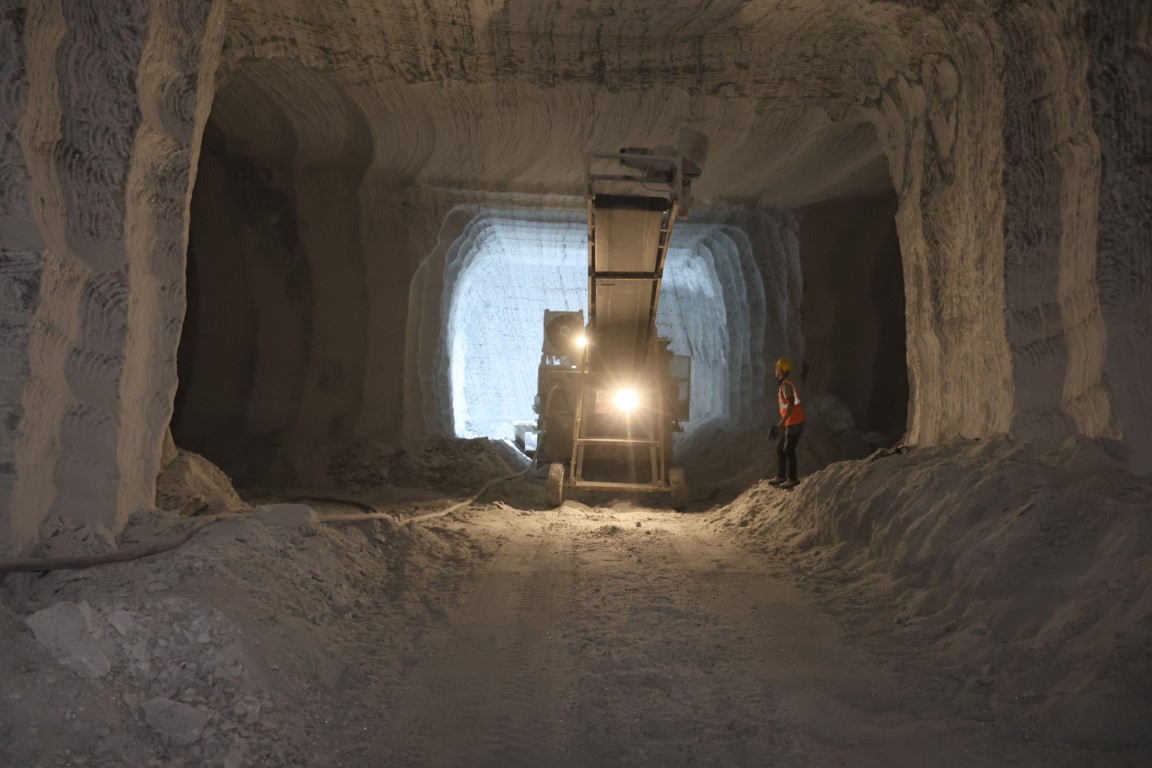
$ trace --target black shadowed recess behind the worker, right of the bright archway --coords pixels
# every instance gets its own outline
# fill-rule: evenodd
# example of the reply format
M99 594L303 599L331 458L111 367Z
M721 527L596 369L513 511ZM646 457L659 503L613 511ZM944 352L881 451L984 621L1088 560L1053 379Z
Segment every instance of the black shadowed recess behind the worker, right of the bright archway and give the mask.
M798 212L805 395L834 395L861 432L892 442L908 420L896 205L890 192Z

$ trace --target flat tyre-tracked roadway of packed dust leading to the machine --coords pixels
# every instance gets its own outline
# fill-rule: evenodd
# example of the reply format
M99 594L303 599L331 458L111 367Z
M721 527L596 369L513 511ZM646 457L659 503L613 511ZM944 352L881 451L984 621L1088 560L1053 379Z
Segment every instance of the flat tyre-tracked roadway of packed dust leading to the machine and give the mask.
M1075 765L940 709L700 522L576 508L476 531L503 543L406 671L379 765Z

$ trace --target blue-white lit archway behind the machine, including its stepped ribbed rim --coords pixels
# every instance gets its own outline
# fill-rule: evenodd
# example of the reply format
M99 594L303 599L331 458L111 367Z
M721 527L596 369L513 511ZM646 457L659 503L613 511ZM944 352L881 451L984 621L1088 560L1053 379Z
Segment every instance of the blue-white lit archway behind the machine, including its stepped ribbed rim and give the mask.
M763 211L703 212L676 226L657 326L694 360L682 444L705 427L763 423L765 351L801 344L798 282L787 277L796 268L791 227L787 214ZM567 212L483 212L445 264L441 343L417 379L434 385L426 394L440 428L510 438L513 420L535 419L544 310L585 309L585 222Z

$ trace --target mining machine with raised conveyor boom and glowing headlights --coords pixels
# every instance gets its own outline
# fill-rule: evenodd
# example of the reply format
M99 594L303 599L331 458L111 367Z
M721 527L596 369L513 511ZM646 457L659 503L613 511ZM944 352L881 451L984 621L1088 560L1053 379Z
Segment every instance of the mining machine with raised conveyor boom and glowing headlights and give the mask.
M688 487L673 436L689 418L691 362L657 333L665 259L688 215L707 138L681 130L677 146L626 147L584 159L588 203L588 320L544 313L536 395L537 466L546 499L567 491L670 494Z

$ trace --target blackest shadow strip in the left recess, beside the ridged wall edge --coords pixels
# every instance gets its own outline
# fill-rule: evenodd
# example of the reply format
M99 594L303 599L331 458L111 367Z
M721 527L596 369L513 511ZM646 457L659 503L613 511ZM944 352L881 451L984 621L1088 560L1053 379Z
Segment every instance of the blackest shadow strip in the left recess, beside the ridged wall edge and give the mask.
M237 480L274 463L303 394L312 302L285 183L205 140L172 433Z

